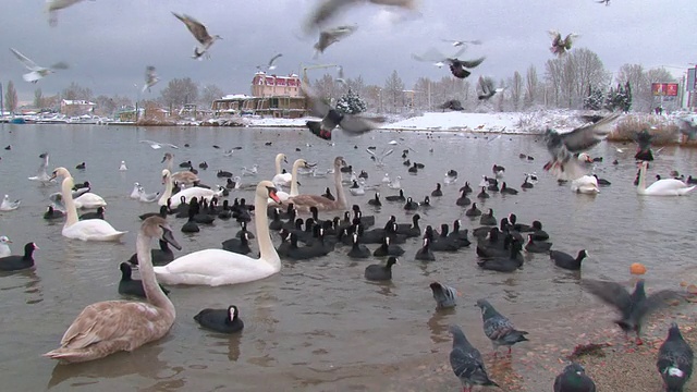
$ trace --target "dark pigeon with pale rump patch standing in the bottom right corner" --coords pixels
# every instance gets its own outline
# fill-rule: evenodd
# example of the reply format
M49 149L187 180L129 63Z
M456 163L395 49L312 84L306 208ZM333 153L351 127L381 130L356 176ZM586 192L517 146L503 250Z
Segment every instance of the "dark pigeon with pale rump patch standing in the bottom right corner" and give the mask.
M693 350L685 342L675 322L668 330L668 338L658 351L656 367L665 383L665 390L682 391L693 375Z

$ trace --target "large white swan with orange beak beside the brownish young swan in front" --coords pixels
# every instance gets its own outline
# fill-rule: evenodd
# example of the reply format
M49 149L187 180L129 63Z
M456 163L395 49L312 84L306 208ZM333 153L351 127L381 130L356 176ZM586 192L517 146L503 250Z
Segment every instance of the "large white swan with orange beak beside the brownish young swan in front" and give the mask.
M270 181L261 181L254 198L255 226L259 241L258 259L223 250L204 249L179 257L163 267L155 267L158 280L164 284L199 284L218 286L252 282L281 270L281 259L273 248L267 219L267 198L279 201Z

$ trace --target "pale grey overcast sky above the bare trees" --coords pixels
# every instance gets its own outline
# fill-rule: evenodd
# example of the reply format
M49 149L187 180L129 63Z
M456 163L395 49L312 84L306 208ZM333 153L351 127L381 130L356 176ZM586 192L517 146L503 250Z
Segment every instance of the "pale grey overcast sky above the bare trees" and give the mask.
M535 64L540 77L551 58L549 29L577 33L576 47L600 56L616 72L624 63L645 68L667 65L682 77L697 62L694 36L695 0L420 0L420 15L391 12L371 4L354 8L331 25L357 24L357 32L313 60L316 35L302 24L318 0L95 0L59 11L50 27L42 0L2 0L0 82L13 81L21 101L35 88L44 95L61 91L71 82L95 95L159 97L171 78L192 77L200 86L216 84L227 94L249 94L256 65L277 52L278 74L299 73L299 64L342 64L346 77L363 75L367 84L383 85L396 70L406 87L419 76L439 79L447 69L416 62L412 53L436 47L453 52L441 39L481 39L461 56L486 56L473 74L498 78ZM188 14L223 37L210 59L191 58L196 41L171 11ZM58 61L71 68L29 84L13 47L39 65ZM139 95L146 65L155 65L160 83ZM668 66L671 68L668 68ZM309 73L320 77L323 70ZM135 85L138 87L136 88Z

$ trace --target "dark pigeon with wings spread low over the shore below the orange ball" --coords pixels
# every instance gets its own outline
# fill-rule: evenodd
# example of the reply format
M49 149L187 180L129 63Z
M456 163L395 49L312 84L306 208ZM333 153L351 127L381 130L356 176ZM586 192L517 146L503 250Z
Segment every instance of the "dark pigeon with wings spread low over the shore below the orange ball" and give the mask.
M643 279L636 282L632 294L616 282L584 280L582 284L602 302L620 310L622 319L615 320L615 323L627 334L627 339L629 331L636 332L636 344L643 344L640 333L644 317L664 306L667 299L680 297L672 290L661 290L647 297Z

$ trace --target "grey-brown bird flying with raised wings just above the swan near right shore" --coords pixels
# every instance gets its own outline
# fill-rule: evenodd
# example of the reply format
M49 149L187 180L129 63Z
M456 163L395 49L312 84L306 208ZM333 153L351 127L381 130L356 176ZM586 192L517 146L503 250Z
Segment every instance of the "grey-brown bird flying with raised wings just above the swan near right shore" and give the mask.
M576 180L583 176L583 168L573 155L585 151L604 139L612 132L614 121L619 118L620 113L613 113L597 123L563 134L547 130L545 142L552 159L545 164L545 170L554 173L558 180Z

